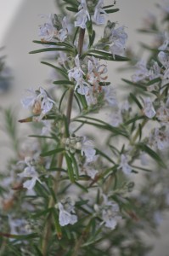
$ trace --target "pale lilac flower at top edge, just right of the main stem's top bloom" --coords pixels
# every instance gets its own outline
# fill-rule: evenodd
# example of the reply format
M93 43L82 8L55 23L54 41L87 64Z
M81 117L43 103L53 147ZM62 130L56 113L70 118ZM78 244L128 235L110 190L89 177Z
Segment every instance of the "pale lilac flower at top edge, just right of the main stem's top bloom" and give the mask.
M105 23L104 15L107 15L103 9L104 7L104 0L99 0L97 3L95 10L94 10L94 21L97 25L102 25Z

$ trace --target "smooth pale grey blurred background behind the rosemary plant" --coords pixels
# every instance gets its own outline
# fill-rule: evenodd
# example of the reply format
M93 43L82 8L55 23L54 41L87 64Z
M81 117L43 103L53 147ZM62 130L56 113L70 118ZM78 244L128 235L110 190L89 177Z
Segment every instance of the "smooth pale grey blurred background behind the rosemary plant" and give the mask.
M156 0L157 1L157 0ZM144 38L143 34L138 34L136 29L143 25L143 18L148 11L157 12L155 0L118 0L116 6L120 12L112 15L111 21L118 21L119 26L127 27L127 46L135 51L138 50L138 42L150 42L150 37ZM105 0L104 3L111 3ZM38 44L33 44L32 40L38 38L38 26L42 23L40 15L56 13L57 8L54 0L0 0L0 55L6 55L5 62L9 67L10 86L8 90L0 91L0 107L11 107L16 109L17 118L25 118L20 99L27 88L38 88L40 85L48 88L48 77L50 68L40 63L42 54L29 55L33 49L38 49ZM101 37L100 32L100 37ZM99 29L98 29L99 36ZM110 67L111 81L117 86L121 83L121 78L130 79L131 73L116 73L115 68L119 64ZM112 70L114 71L112 72ZM113 73L113 75L112 75ZM26 125L20 125L21 134L26 135ZM0 131L0 163L5 165L8 155L11 155L8 138ZM164 215L159 226L160 237L145 237L145 241L154 243L155 249L149 254L151 256L167 256L169 249L169 216ZM137 256L137 255L136 255Z

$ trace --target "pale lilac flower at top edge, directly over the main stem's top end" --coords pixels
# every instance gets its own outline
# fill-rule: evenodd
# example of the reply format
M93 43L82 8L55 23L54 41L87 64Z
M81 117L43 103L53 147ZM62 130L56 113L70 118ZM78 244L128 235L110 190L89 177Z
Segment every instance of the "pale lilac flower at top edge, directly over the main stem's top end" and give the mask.
M80 26L85 29L87 20L90 20L90 15L87 10L87 3L86 0L81 0L81 4L78 7L79 12L75 15L76 21L75 26Z

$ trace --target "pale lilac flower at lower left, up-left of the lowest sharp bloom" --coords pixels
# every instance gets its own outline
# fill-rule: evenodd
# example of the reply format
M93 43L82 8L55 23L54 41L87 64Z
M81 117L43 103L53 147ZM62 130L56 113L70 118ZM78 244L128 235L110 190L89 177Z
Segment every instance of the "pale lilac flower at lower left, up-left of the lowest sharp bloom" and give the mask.
M30 157L25 157L25 169L24 172L21 172L18 174L19 177L31 177L31 179L25 181L23 183L23 187L25 189L33 189L36 182L38 181L41 183L40 179L38 178L37 172L35 170L35 166L31 166L32 159ZM23 161L20 161L19 163L23 163Z

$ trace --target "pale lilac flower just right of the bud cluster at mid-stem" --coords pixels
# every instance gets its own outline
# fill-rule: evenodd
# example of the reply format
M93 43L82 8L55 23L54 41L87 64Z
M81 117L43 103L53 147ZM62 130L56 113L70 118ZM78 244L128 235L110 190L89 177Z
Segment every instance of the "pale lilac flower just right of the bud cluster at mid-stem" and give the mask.
M93 142L86 137L82 138L81 153L86 156L87 162L92 162L95 159L96 150L93 148Z

